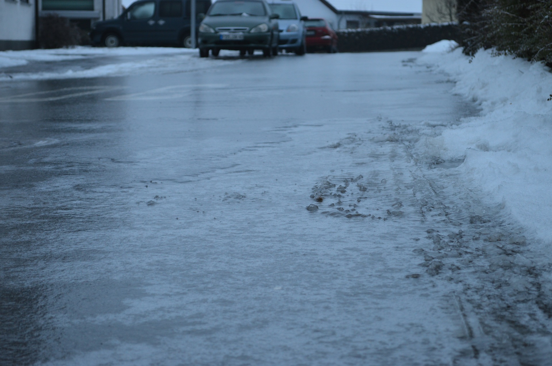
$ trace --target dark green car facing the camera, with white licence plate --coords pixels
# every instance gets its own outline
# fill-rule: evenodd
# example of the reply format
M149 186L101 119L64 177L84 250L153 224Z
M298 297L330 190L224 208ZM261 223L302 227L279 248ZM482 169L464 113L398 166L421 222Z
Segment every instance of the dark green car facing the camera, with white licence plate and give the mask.
M209 8L199 25L199 57L209 50L237 50L241 56L262 50L263 56L278 54L278 14L273 14L265 0L219 0Z

